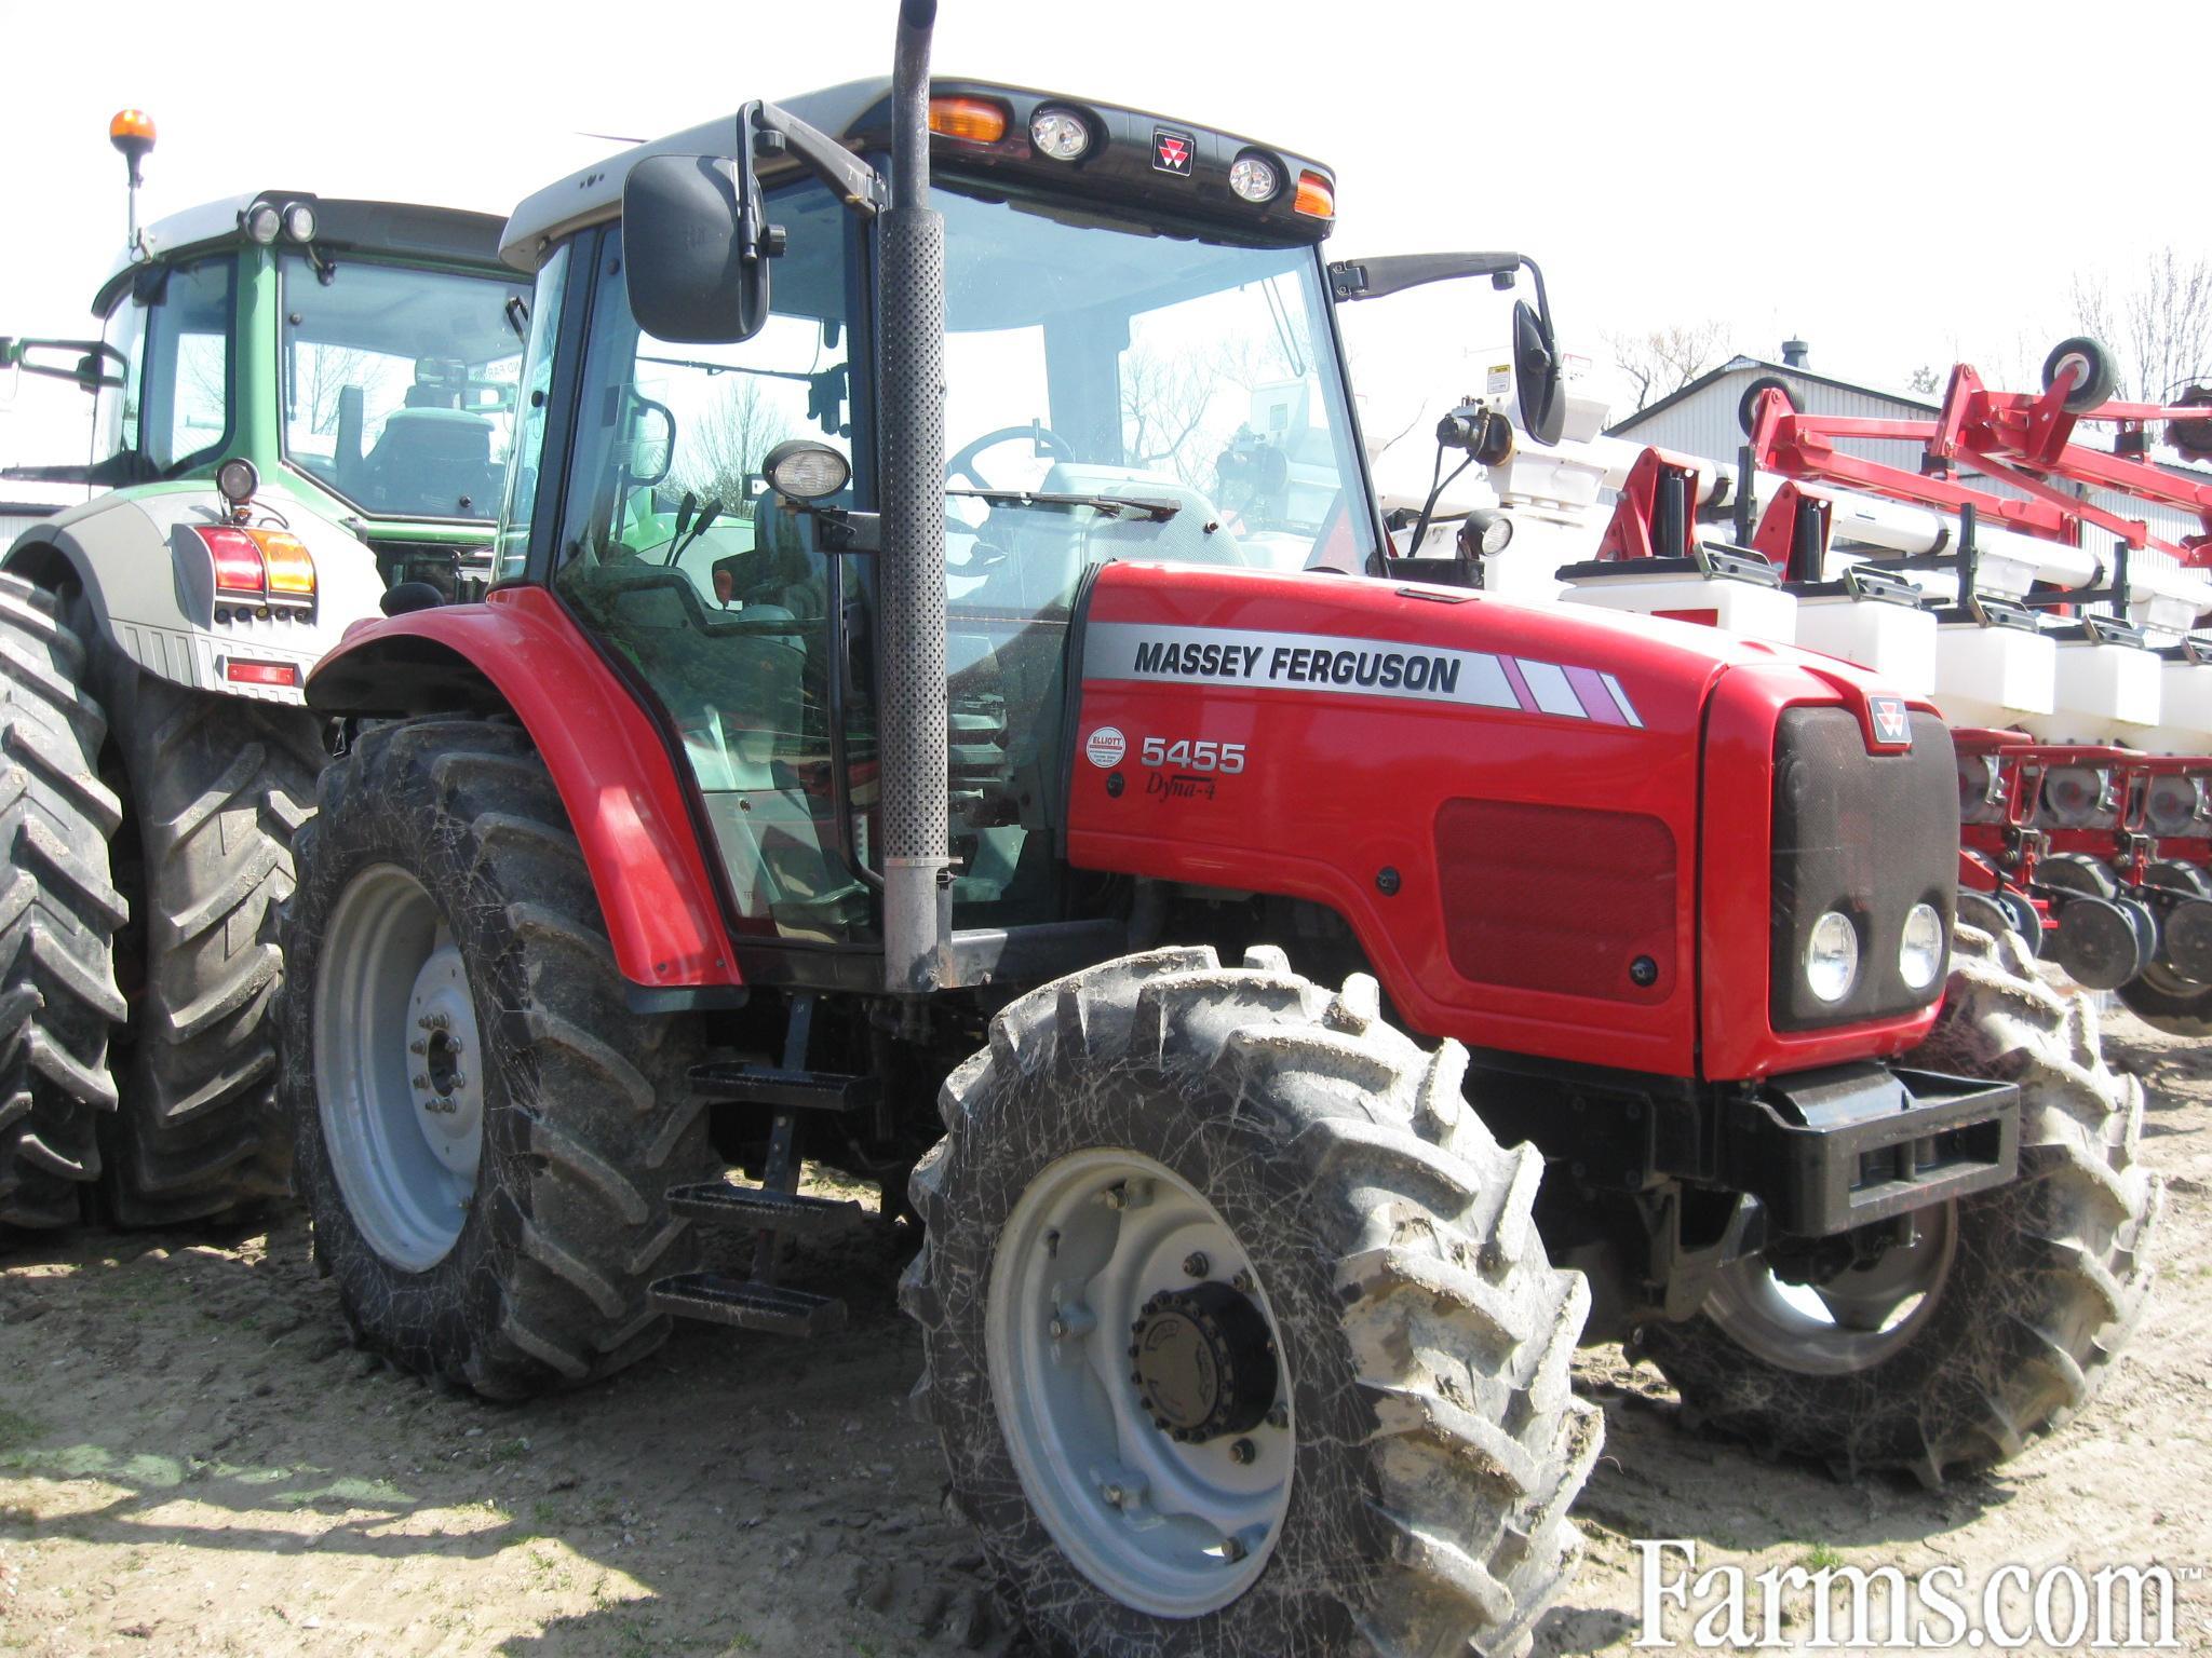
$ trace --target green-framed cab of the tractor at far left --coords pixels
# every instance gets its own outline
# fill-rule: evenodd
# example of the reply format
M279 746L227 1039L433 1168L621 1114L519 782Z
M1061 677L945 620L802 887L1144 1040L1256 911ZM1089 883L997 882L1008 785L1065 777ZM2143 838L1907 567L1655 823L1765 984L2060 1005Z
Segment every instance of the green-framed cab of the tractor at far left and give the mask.
M7 475L159 491L250 460L387 581L480 590L524 332L498 223L263 190L135 230L93 298L102 338L0 345L95 398L84 462Z

